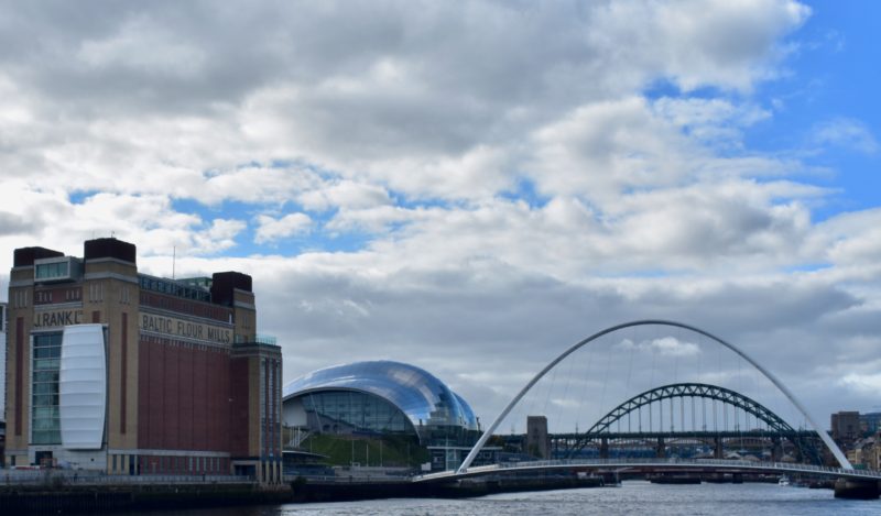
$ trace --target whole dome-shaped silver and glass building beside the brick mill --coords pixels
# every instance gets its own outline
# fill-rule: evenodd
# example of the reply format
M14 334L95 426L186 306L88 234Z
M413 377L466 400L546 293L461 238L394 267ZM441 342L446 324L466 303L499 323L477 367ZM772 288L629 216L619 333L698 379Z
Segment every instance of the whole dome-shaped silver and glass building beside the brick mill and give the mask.
M283 389L284 425L331 435L410 436L434 468L457 460L479 437L471 407L433 374L393 361L308 373Z

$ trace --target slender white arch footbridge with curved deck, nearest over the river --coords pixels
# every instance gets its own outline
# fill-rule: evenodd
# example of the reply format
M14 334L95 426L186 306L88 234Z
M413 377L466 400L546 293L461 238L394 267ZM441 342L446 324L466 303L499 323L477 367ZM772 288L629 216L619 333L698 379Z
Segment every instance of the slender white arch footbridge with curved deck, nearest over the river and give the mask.
M780 389L783 395L792 403L795 408L804 416L805 420L811 425L817 437L828 448L839 464L839 468L826 468L812 464L798 464L790 462L754 462L754 461L732 461L732 460L683 460L683 459L567 459L567 460L541 460L527 462L514 462L507 464L490 464L471 468L471 462L478 455L480 450L486 444L487 440L493 435L498 426L504 420L511 409L523 398L523 396L550 372L555 365L565 360L573 352L578 349L589 345L602 336L631 327L639 326L667 326L674 328L682 328L695 333L701 334L720 345L733 351L740 358L749 362L760 373L762 373L771 383ZM622 325L612 326L602 331L599 331L568 348L559 354L556 359L551 361L542 371L540 371L521 391L516 396L511 399L508 406L499 414L496 420L487 427L486 431L481 435L477 443L471 448L468 455L456 470L443 471L420 475L413 479L414 482L448 482L469 476L482 476L503 473L529 472L529 471L547 471L547 470L578 470L578 471L616 471L616 470L653 470L653 471L699 471L699 472L766 472L776 474L809 474L813 476L826 477L842 477L851 480L881 480L881 472L870 470L855 470L850 462L845 457L844 452L831 440L829 435L825 432L814 418L808 414L804 405L795 397L795 395L780 382L770 371L759 364L755 360L749 356L740 348L726 342L725 340L694 326L683 322L661 319L646 319L626 322Z

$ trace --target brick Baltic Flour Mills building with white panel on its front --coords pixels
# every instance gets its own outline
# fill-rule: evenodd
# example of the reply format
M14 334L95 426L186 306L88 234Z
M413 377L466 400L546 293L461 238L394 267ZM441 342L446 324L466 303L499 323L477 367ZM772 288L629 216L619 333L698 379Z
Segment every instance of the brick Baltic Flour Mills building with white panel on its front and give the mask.
M14 251L6 464L281 481L281 349L251 277L138 272L135 246Z

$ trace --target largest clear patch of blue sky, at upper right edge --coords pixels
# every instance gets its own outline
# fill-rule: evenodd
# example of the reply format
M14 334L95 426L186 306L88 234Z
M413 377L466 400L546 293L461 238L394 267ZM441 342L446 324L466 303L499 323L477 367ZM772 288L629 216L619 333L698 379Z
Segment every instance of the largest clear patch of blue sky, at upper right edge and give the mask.
M747 142L769 152L813 154L807 160L812 167L829 169L830 176L816 183L842 191L815 212L823 219L879 204L881 100L871 91L881 81L881 69L873 66L881 51L874 26L881 6L870 1L808 6L812 15L794 35L800 50L785 61L790 72L757 91L765 101L780 99L784 108L775 112L773 124L757 128ZM866 131L867 140L817 142L817 131L836 122L855 124Z

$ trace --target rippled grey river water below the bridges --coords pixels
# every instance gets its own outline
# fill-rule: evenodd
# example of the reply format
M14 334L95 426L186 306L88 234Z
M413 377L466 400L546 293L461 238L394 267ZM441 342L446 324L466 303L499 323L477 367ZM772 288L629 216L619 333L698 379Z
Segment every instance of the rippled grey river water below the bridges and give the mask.
M379 499L324 504L164 510L178 516L523 516L523 515L879 515L881 501L836 499L829 490L776 484L659 485L627 481L620 487L510 493L468 499ZM133 516L132 513L127 513Z

